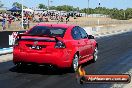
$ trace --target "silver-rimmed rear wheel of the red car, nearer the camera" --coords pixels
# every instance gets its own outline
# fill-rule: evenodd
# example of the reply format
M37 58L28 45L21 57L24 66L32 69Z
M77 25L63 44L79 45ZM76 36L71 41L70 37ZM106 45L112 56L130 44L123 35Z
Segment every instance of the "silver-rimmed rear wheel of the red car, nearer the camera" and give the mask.
M76 72L78 70L78 60L79 60L79 56L75 54L71 65L72 72Z

